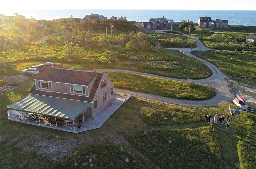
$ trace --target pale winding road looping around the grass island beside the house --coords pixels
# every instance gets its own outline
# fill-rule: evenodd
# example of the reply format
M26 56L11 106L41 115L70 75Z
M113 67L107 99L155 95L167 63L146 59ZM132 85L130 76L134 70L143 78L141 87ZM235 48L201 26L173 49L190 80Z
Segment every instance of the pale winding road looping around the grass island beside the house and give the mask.
M156 32L163 32L163 30L156 30ZM184 36L188 36L186 34L183 34ZM212 50L211 48L207 48L204 46L204 44L198 40L195 37L191 37L196 40L196 48L193 48L194 50ZM204 84L207 86L212 86L216 91L216 96L209 100L203 100L203 101L192 101L192 100L181 100L181 99L172 99L172 98L166 98L162 96L152 95L152 94L146 94L146 93L140 93L140 92L133 92L133 91L126 91L122 89L115 89L115 92L122 93L122 94L134 94L139 95L142 97L162 100L166 102L171 102L175 104L181 104L185 105L194 105L194 106L217 106L221 105L227 102L230 102L234 99L234 95L230 93L230 90L228 88L227 80L228 77L224 76L222 72L213 64L204 61L203 59L200 59L190 53L191 48L167 48L172 50L181 50L184 52L185 55L188 55L190 57L193 57L195 59L200 60L201 62L204 62L211 70L212 70L212 76L208 77L206 79L199 79L199 80L193 80L193 82L198 84ZM116 70L116 69L98 69L98 70L90 70L90 71L97 71L97 72L103 72L103 71L117 71L117 72L125 72L125 73L132 73L137 75L143 75L143 76L150 76L150 77L158 77L158 78L164 78L169 80L176 80L176 81L182 81L186 82L187 79L176 79L176 78L170 78L170 77L162 77L157 75L152 75L148 73L141 73L141 72L135 72L130 70Z

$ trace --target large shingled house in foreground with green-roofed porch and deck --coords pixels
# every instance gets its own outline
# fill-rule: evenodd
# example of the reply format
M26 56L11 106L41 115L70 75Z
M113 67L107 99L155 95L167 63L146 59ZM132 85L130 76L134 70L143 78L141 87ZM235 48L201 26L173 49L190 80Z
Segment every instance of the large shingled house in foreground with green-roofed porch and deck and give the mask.
M8 120L76 133L99 128L124 103L106 73L44 68L34 80L6 107Z

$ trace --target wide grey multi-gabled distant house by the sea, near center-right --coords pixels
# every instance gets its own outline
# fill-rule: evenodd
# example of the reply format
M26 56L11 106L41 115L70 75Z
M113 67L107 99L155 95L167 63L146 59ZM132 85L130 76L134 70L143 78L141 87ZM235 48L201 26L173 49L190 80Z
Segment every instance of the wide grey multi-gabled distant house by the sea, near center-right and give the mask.
M178 28L180 22L174 22L173 19L162 18L150 18L149 22L152 22L156 28Z

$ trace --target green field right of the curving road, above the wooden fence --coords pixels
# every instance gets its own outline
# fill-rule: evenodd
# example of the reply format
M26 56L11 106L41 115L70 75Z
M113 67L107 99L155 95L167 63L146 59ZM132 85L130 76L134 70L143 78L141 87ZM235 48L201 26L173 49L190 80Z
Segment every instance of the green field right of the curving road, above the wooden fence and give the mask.
M256 52L249 51L196 51L195 55L217 66L229 76L255 77Z

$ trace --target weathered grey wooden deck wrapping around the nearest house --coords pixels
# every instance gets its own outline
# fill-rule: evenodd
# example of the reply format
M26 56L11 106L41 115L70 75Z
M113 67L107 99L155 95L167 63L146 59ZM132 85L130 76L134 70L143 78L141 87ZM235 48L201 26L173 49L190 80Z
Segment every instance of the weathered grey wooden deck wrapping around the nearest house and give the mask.
M79 129L77 129L77 124L79 123L78 122L79 120L80 121L83 120L82 115L80 115L77 118L77 122L75 126L74 125L64 126L63 124L60 124L58 122L56 125L56 122L49 122L45 118L41 119L40 117L36 119L29 119L29 114L26 114L26 112L20 112L17 110L9 110L8 119L10 121L17 121L25 124L32 124L32 125L47 127L51 129L79 133L83 131L100 128L108 120L108 118L110 118L110 116L114 114L115 111L125 102L125 99L127 97L128 96L122 96L122 95L116 94L115 98L112 99L105 107L102 107L101 110L97 112L97 114L95 114L93 117L84 116L84 124L83 122L80 122L81 127ZM61 119L57 119L57 120L61 121Z

